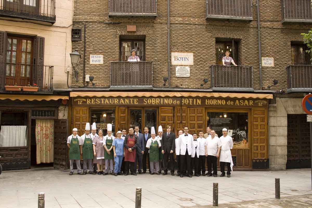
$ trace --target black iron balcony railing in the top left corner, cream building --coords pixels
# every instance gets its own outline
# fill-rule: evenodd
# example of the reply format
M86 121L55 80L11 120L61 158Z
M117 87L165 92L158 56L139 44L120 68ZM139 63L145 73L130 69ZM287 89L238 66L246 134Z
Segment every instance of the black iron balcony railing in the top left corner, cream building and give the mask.
M0 17L13 17L54 24L56 0L0 0Z

